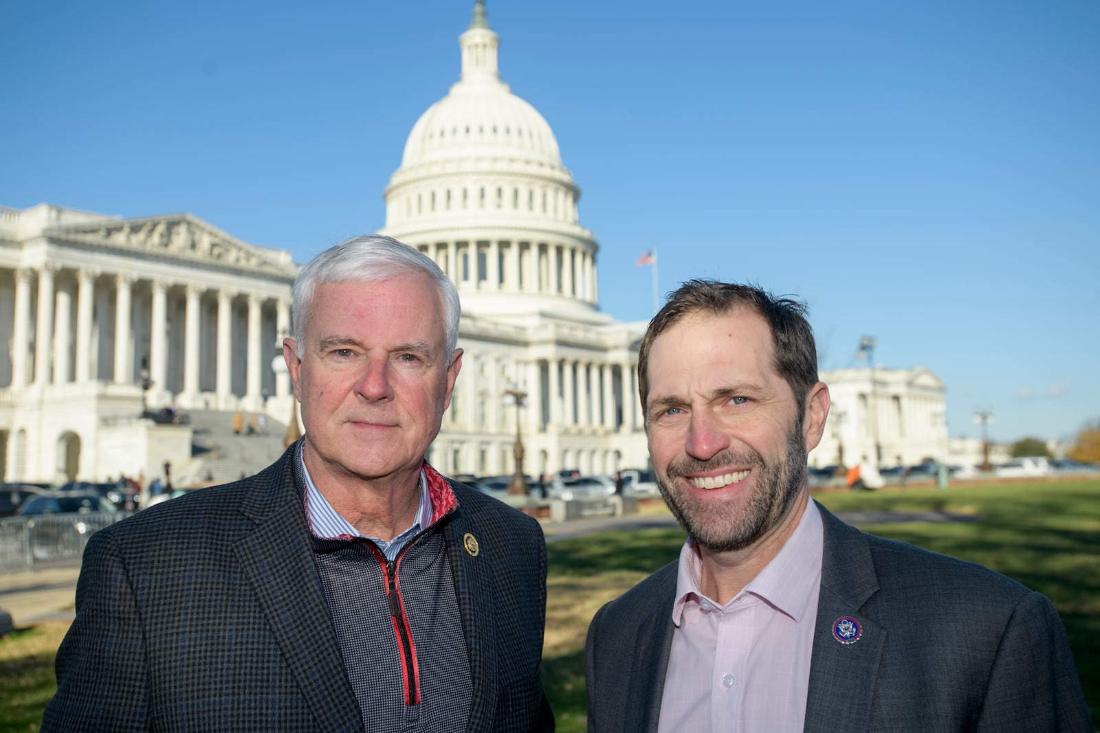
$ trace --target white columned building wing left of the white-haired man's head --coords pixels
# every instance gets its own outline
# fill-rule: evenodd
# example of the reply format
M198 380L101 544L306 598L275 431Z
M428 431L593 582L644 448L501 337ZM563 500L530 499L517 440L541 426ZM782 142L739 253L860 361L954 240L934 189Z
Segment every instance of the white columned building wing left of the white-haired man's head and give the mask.
M188 429L163 437L165 415L151 420L143 407L253 411L264 387L286 384L267 373L264 340L289 333L297 268L288 253L244 245L187 214L127 220L40 204L0 208L0 262L14 286L0 288L10 359L0 369L0 440L9 441L0 479L154 476L168 445L183 471L173 477L193 479L180 458L190 449L179 447ZM246 329L243 308L234 320L237 298L248 300Z

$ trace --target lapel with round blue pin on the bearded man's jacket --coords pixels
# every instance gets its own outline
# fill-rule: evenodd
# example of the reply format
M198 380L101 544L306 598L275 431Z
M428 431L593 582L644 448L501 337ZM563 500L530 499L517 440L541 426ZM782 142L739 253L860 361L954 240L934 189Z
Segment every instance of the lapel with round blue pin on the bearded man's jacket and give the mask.
M824 525L821 595L810 660L805 731L867 731L886 629L862 613L878 590L866 537L827 509L817 506ZM860 628L857 641L844 644L834 625L844 618Z

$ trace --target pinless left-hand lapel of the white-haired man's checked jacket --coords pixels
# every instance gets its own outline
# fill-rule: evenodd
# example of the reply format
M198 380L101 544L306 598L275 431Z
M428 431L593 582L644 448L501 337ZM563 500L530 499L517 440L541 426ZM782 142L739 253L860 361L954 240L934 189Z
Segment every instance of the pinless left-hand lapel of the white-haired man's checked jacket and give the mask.
M314 565L305 510L294 484L297 453L256 477L254 500L242 512L257 522L233 545L283 657L320 730L362 730L324 591Z

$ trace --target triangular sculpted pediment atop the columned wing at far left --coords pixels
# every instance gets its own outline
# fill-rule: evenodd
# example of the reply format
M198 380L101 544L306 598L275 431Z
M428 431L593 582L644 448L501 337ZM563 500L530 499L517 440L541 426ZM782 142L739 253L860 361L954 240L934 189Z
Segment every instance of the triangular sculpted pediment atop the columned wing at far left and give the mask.
M191 214L109 219L52 226L43 234L97 248L141 252L248 273L292 279L297 274L290 253L246 244Z

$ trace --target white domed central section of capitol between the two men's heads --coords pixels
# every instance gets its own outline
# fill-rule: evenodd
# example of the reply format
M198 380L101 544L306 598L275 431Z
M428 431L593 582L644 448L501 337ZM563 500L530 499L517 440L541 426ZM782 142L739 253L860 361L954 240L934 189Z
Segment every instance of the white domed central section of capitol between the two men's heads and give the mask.
M413 125L380 231L438 263L462 300L462 373L429 460L508 474L518 430L530 475L645 466L644 324L600 311L580 189L550 125L501 79L482 0L459 45L461 76Z

